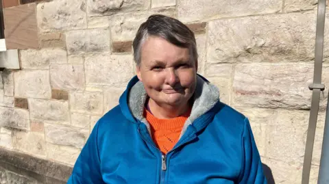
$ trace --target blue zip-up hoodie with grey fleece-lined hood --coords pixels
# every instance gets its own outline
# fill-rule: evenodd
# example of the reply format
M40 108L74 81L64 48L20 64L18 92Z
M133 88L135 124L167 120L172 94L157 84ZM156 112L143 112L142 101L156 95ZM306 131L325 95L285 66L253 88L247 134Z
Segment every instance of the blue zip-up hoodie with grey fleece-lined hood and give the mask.
M147 94L134 77L96 124L68 183L267 183L249 121L197 76L191 116L164 155L143 117Z

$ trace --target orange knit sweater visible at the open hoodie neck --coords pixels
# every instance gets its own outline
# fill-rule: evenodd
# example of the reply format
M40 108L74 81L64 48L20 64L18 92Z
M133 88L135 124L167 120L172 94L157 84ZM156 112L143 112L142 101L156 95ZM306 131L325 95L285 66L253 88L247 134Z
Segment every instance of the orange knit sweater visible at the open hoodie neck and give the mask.
M167 154L178 142L184 123L190 114L191 110L177 118L159 119L144 109L144 117L151 125L152 138L162 153Z

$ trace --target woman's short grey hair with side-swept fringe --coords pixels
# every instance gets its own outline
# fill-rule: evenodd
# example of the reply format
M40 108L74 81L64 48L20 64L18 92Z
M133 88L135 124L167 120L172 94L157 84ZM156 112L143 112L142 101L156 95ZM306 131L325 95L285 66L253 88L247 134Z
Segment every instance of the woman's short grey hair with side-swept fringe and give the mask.
M132 42L136 66L141 65L141 47L149 36L158 36L175 46L188 48L190 58L197 62L197 44L193 31L175 18L154 14L141 24Z

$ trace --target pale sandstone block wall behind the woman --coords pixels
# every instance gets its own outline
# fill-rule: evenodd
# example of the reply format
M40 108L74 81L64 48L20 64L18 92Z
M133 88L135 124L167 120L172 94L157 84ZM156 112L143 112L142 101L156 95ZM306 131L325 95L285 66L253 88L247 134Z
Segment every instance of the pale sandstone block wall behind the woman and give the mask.
M138 26L151 14L165 14L195 32L198 73L219 87L221 101L250 119L262 161L274 181L300 183L317 1L20 3L4 10L6 42L9 48L20 49L21 70L0 72L2 148L73 166L95 122L117 105L134 76L132 40ZM13 14L19 18L11 18ZM326 34L322 73L326 86L328 41ZM317 183L327 94L325 90L321 95L310 183Z

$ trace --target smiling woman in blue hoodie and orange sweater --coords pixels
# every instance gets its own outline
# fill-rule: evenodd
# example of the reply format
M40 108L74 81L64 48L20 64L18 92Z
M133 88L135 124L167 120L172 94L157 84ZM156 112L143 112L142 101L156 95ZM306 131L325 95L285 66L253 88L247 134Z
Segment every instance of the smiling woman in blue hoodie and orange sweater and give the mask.
M95 125L68 183L267 183L247 118L197 75L193 32L153 15L133 47L137 76Z

